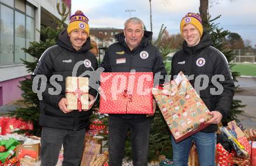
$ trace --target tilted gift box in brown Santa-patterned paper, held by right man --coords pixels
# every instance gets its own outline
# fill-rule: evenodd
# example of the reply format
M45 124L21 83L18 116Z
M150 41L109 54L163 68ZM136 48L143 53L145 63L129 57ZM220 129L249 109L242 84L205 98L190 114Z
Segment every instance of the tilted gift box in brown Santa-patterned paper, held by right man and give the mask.
M152 88L152 93L176 142L209 125L209 109L182 72L172 82Z

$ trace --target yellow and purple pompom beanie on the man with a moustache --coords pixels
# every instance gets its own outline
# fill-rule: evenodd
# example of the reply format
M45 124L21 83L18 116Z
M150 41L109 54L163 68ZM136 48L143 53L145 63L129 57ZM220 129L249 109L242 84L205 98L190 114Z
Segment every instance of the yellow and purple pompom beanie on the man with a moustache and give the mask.
M90 35L90 27L88 25L88 18L84 16L81 10L77 10L72 16L69 17L69 25L67 25L67 34L70 34L74 29L84 29L87 35Z

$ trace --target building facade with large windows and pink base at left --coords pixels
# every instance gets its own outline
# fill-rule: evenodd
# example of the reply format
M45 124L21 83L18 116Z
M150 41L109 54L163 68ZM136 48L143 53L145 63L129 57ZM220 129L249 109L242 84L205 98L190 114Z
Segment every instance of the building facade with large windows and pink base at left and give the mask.
M30 74L23 60L34 61L22 48L40 40L41 25L55 28L61 19L56 9L60 0L0 0L0 106L16 101L22 91L19 81ZM71 0L64 1L70 6ZM66 21L68 23L68 21Z

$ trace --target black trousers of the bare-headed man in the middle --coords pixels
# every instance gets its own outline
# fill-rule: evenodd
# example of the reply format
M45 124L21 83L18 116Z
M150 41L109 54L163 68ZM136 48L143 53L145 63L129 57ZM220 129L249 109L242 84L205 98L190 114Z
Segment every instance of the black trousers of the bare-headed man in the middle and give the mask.
M131 134L131 152L134 166L146 166L148 163L148 141L151 127L150 118L133 116L112 116L108 121L109 166L121 166L125 152L127 132Z

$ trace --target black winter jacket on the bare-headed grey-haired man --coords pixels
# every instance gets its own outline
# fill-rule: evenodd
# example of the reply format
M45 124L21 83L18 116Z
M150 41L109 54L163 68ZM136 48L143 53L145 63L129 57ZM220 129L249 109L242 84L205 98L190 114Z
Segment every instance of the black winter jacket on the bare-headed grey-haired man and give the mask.
M130 72L131 69L135 69L136 72L153 72L154 75L155 73L161 72L163 78L158 78L159 83L162 84L164 82L166 70L161 53L157 47L149 43L152 38L152 32L144 31L140 45L133 50L130 50L129 46L127 46L123 33L117 34L115 38L118 42L108 47L100 65L100 67L105 69L104 72ZM131 116L144 117L145 115Z

